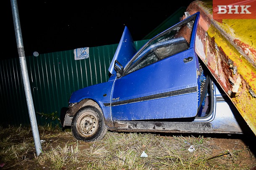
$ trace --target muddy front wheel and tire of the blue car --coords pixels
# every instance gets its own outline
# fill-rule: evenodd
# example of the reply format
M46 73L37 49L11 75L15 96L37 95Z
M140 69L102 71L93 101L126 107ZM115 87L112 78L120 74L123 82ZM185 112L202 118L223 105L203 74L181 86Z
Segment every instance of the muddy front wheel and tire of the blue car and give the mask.
M102 113L93 106L85 106L72 119L71 130L77 140L91 142L101 140L107 133Z

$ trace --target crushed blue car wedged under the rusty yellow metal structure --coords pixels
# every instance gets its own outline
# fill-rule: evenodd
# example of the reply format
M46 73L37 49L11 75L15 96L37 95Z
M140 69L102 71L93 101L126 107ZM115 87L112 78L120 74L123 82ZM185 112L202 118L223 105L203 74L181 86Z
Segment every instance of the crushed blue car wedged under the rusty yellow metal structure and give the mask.
M107 82L72 93L63 127L82 141L109 131L242 134L232 103L195 52L200 13L149 40L138 52L125 27Z

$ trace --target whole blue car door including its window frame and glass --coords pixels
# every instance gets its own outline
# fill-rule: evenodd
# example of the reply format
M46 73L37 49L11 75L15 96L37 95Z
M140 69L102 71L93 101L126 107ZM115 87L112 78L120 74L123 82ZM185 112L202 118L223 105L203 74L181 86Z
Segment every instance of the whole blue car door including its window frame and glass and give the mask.
M194 117L198 108L198 60L194 41L199 13L146 43L112 88L114 121Z

